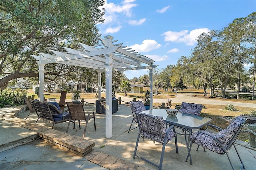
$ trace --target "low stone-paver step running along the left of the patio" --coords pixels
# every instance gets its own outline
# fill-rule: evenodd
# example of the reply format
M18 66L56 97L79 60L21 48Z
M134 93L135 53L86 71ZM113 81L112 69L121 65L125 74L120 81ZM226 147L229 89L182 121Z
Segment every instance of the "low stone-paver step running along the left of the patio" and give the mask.
M23 110L23 108L18 108L17 110ZM44 127L36 123L31 123L24 119L15 117L13 113L3 111L0 115L1 118L5 121L18 125L19 127L28 129L26 130L28 131L26 133L30 134L26 136L24 140L20 139L17 141L8 142L8 144L1 144L0 148L2 151L12 148L11 146L15 147L20 144L32 142L33 140L36 140L38 138L41 138L42 140L50 144L58 146L61 149L72 152L79 156L84 156L87 153L91 152L92 148L95 146L95 142L80 138L78 136L74 136L72 134L66 134L64 132L60 132L49 127Z

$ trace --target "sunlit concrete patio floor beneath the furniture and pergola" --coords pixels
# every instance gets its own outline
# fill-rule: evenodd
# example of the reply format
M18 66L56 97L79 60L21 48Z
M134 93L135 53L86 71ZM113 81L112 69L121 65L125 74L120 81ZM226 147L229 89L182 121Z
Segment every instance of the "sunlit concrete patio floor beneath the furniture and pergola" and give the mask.
M86 111L96 111L95 105L86 105L85 106ZM21 113L18 118L22 119L25 121L26 116L28 115L28 111ZM34 123L37 119L37 116L35 113L31 113L30 116L28 117L27 121L30 121L31 123ZM102 114L97 114L96 113L96 131L94 131L94 126L93 126L93 121L90 121L88 123L88 127L86 130L86 139L87 140L92 140L95 142L95 146L93 147L93 152L102 152L105 154L108 154L110 156L114 156L116 158L120 158L124 161L136 164L138 166L130 167L130 169L136 169L140 167L140 169L158 169L155 166L152 166L151 164L141 160L140 158L135 158L133 159L133 152L134 152L134 147L136 144L136 139L138 136L138 128L130 131L128 133L128 128L130 126L130 123L132 121L132 113L130 110L130 107L126 107L125 105L118 105L118 112L113 114L113 135L112 138L106 138L105 137L105 115ZM52 125L49 123L44 123L42 121L38 121L38 123L35 124L35 126L44 126L44 127L49 127L51 128ZM61 124L56 124L54 125L55 130L59 130L61 132L66 132L66 127L68 123L61 123ZM81 129L79 129L78 124L76 124L76 128L73 129L73 126L70 125L68 134L72 134L75 136L82 137L82 133L84 130L84 123L81 123ZM3 123L1 123L1 127L3 126ZM134 123L134 126L136 124ZM177 129L176 131L179 131ZM1 139L2 140L2 134L3 130L1 129ZM20 134L16 134L16 136L22 136ZM13 135L14 136L14 135ZM1 141L2 142L2 141ZM29 144L26 144L24 146L34 146L37 147L37 145L40 145L42 143L45 143L42 140L36 140L34 142L31 142ZM237 143L237 148L238 152L242 158L242 161L244 162L244 166L246 170L254 170L255 169L255 164L256 164L256 148L252 148L249 146L247 142L243 142L240 140L236 141ZM30 147L32 147L30 146ZM53 148L54 150L58 150L60 148L56 146L48 146L47 148ZM170 141L165 148L165 154L164 154L164 161L163 161L163 170L170 170L170 169L175 169L175 170L184 170L184 169L190 169L190 170L203 170L203 169L208 169L208 170L216 170L216 169L221 169L221 170L230 170L231 166L228 162L228 158L226 155L220 155L216 154L214 152L211 152L210 150L206 150L206 152L203 151L203 148L200 148L198 152L196 152L197 145L192 145L192 165L190 165L189 161L185 162L186 156L188 154L188 150L186 148L186 143L184 140L184 136L178 135L178 150L179 153L176 154L175 151L175 145L174 145L174 139ZM160 160L160 154L161 154L161 145L160 144L153 144L152 141L150 140L140 140L140 143L138 145L138 151L137 154L144 156L145 158L152 160L158 164ZM8 150L7 150L8 151ZM4 152L7 152L4 151ZM1 164L5 161L3 158L3 153L0 153L1 156ZM15 152L15 148L12 149L12 152ZM66 153L65 151L62 150L62 154L65 156L69 156L71 153ZM231 156L231 161L235 169L240 169L240 161L238 156L235 153L234 147L230 149L230 156ZM30 153L30 152L28 152ZM30 154L26 154L26 162L33 162L33 160L29 160L32 158L32 156L29 156ZM33 153L33 150L31 149L31 153ZM54 154L54 153L53 153ZM67 161L64 160L61 164L70 164L69 160L81 160L84 162L89 162L86 159L83 159L83 157L80 156L74 156L74 154L71 154L71 158L67 158ZM86 158L86 156L84 157ZM89 159L90 160L90 159ZM63 160L62 160L63 161ZM58 160L54 161L58 162ZM66 162L66 163L65 163ZM100 160L90 160L90 163L92 164L96 163L100 165ZM15 163L15 160L14 162ZM42 164L44 164L42 162ZM57 163L58 164L58 163ZM57 164L52 164L51 168L55 168ZM0 166L2 169L2 165ZM44 168L50 168L49 166L43 166ZM78 169L76 168L68 168L68 166L65 166L66 168L64 169ZM72 167L72 166L71 166ZM89 166L88 166L89 167ZM103 168L102 166L94 167L94 168L80 168L80 169L100 169ZM8 169L8 168L7 168ZM32 169L32 168L31 168ZM111 168L109 168L111 169ZM128 169L125 167L122 167L122 164L120 167L116 167L114 169Z

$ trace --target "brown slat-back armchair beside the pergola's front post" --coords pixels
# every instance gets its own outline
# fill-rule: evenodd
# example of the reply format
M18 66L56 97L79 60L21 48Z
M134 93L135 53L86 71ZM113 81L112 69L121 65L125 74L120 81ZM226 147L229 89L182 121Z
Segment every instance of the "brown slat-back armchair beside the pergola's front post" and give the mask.
M93 121L94 121L94 130L96 130L94 112L90 112L86 116L82 103L66 102L66 104L68 106L68 111L70 113L70 118L69 118L69 122L68 122L68 127L67 127L67 130L66 130L66 133L68 133L68 128L69 128L69 125L70 125L70 121L73 121L73 123L74 123L73 129L75 128L76 121L78 121L78 123L79 123L79 129L81 129L80 121L86 121L86 124L85 124L85 127L84 127L84 133L83 133L83 137L82 138L84 138L84 136L85 136L87 124L88 124L88 121L90 119L93 119ZM91 113L93 114L92 116L90 116Z

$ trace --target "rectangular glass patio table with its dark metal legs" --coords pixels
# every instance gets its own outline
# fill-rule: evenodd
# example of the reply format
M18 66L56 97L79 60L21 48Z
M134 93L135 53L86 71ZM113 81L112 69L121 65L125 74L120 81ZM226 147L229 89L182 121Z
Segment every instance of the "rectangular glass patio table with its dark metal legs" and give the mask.
M169 116L167 115L165 109L152 109L152 110L142 111L141 113L163 117L165 123L174 125L175 127L183 129L184 133L177 133L177 132L176 133L185 136L185 141L186 141L188 151L189 151L190 135L192 134L192 129L200 129L212 121L212 119L208 117L189 115L189 114L180 113L180 112L178 112L176 116ZM187 136L188 136L188 140L187 140ZM190 164L192 164L191 155L189 156L190 156Z

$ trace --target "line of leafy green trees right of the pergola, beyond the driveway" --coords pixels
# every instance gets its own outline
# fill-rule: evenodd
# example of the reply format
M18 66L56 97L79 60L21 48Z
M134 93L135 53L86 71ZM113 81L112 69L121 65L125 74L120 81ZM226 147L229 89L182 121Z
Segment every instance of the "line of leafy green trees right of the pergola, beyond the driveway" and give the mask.
M184 89L186 85L210 89L220 87L222 98L225 89L237 87L236 99L240 97L240 85L251 84L255 88L256 76L256 12L245 18L237 18L222 30L202 33L190 56L181 56L176 65L155 69L153 87L168 91L168 88ZM249 69L245 65L250 64ZM135 81L133 78L131 81ZM148 84L148 75L138 78L140 84ZM252 90L252 100L254 100Z

